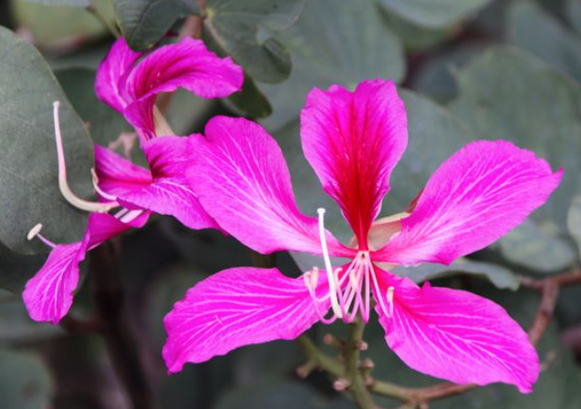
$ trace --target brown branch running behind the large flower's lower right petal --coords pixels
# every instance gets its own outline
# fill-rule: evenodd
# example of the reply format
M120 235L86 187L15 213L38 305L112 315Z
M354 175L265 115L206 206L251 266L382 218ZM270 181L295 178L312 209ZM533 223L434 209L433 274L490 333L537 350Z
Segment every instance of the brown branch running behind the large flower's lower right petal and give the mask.
M525 287L541 291L541 302L538 311L531 324L528 335L531 343L535 346L540 342L545 331L555 313L555 305L561 286L581 284L581 272L574 271L546 278L544 280L535 280L528 277L521 277L521 282ZM341 376L342 364L336 359L329 357L326 353L319 350L314 343L305 336L299 338L303 351L309 357L309 361L315 363L317 367L324 369L333 376ZM311 365L315 366L315 365ZM373 394L379 394L397 398L404 403L405 408L421 408L434 400L443 399L449 396L464 394L472 391L478 385L444 382L438 383L426 388L407 388L394 383L372 380L368 383L368 391ZM360 406L366 407L366 406Z

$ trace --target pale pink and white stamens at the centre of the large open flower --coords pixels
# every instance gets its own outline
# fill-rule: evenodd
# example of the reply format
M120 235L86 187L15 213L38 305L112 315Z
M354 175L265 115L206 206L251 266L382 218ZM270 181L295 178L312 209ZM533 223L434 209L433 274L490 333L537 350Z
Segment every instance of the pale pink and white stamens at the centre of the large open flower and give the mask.
M337 318L349 323L355 321L358 314L360 314L361 319L368 322L371 308L371 285L373 285L373 290L376 294L381 294L376 271L369 257L369 251L358 251L358 254L347 268L339 267L334 269L327 248L324 220L325 209L319 209L317 212L321 248L327 271L328 290L317 291L319 282L319 269L317 267L306 271L304 279L306 289L315 304L318 318L324 323L335 322ZM321 289L324 288L324 286L321 286ZM383 294L376 297L379 307L388 317L393 315L393 292L394 288L389 287L385 294L385 299ZM326 317L326 312L321 311L320 306L326 305L329 301L333 313L330 317Z

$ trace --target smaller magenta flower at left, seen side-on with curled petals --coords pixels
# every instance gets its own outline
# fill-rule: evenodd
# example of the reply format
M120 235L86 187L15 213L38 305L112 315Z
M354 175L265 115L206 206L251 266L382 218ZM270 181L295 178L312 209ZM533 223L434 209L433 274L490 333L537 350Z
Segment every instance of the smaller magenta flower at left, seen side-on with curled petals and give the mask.
M75 243L47 240L40 235L41 225L31 230L29 239L38 237L52 248L45 265L26 283L23 293L33 320L59 322L70 309L78 286L78 264L86 252L125 230L143 226L150 212L171 215L192 229L218 228L186 180L185 169L194 155L195 139L156 138L155 97L178 87L200 97L226 97L242 87L242 68L192 39L162 46L137 63L141 56L143 53L131 51L123 39L117 40L99 66L96 91L137 129L150 169L95 145L93 180L99 202L79 199L67 186L55 103L59 186L73 206L90 215L84 239Z

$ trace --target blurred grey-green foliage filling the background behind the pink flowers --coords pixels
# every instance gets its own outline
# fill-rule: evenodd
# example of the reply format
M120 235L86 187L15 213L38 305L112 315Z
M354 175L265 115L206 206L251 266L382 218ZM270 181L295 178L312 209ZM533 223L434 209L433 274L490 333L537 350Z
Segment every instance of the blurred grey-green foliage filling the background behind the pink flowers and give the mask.
M259 119L282 145L302 210L331 213L329 228L343 240L348 229L320 189L302 156L298 116L312 87L354 87L371 77L393 78L405 99L410 147L392 178L383 214L399 212L431 172L452 152L476 138L504 138L534 150L565 169L561 187L544 208L491 248L451 267L398 269L416 281L469 288L500 302L524 327L533 320L538 295L519 289L519 275L550 277L579 269L581 247L581 0L3 0L0 25L0 169L16 162L21 174L0 170L0 408L130 408L127 394L100 337L31 322L20 299L26 280L46 257L23 243L22 232L42 215L50 237L75 240L85 221L62 215L57 205L56 158L36 135L52 133L50 102L63 91L69 158L78 191L90 189L89 134L108 145L130 131L93 92L95 70L114 35L145 49L182 32L189 15L205 15L202 38L214 51L244 66L244 92L223 101L185 92L165 98L177 133L202 132L216 114ZM37 55L34 49L39 50ZM46 60L46 63L42 60ZM12 61L26 70L11 70ZM53 75L54 73L54 75ZM26 92L30 90L30 92ZM23 112L21 107L27 107ZM26 116L30 127L8 118ZM82 126L82 122L86 127ZM44 140L44 139L43 139ZM47 142L48 143L48 142ZM67 146L67 142L66 142ZM132 152L139 158L139 150ZM42 165L42 166L40 166ZM22 189L15 179L45 175L53 189ZM33 186L34 188L34 186ZM16 195L16 196L15 196ZM20 199L6 203L5 198ZM20 201L18 201L20 200ZM8 200L10 201L10 200ZM26 202L26 205L23 203ZM9 210L9 211L8 211ZM8 213L6 213L8 211ZM14 213L12 213L14 212ZM16 217L18 215L18 217ZM63 219L64 218L64 219ZM52 220L52 221L51 221ZM20 227L18 227L20 226ZM17 236L20 235L20 236ZM17 236L17 237L16 237ZM140 335L148 375L166 409L352 408L324 373L296 377L305 357L295 343L242 348L210 363L187 365L167 376L161 361L162 318L196 281L227 267L250 265L251 254L232 238L184 229L157 217L117 245L130 325ZM320 261L278 254L281 270L296 274ZM298 268L297 268L298 266ZM94 311L86 276L71 312ZM539 354L544 370L534 394L492 385L430 404L435 409L581 407L581 286L564 289L556 319ZM78 330L78 328L77 328ZM321 340L345 325L317 326ZM389 352L375 321L368 325L374 376L408 386L436 381L413 373ZM420 347L420 346L419 346ZM136 345L136 348L138 346ZM379 399L379 404L397 402Z

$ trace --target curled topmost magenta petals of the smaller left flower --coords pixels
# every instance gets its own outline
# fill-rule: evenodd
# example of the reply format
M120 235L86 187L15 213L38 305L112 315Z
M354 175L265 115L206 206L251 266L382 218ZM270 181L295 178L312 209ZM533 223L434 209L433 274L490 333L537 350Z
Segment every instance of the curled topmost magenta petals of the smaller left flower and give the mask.
M145 141L155 136L154 103L161 92L182 87L198 97L228 97L242 88L243 81L240 66L230 57L219 58L201 40L184 38L146 55L119 38L99 66L95 92Z

